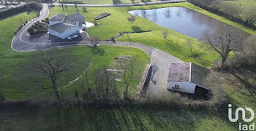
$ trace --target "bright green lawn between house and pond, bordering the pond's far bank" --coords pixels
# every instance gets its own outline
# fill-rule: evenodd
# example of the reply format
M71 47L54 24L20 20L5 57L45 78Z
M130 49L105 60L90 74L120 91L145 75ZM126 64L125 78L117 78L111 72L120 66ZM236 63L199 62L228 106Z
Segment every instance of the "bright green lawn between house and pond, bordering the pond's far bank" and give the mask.
M224 17L220 17L218 15L214 15L211 12L207 12L204 9L200 9L199 7L195 7L192 4L187 2L184 3L176 3L176 4L160 4L160 5L151 5L151 6L143 6L143 7L88 7L88 12L83 12L81 7L78 7L78 10L75 7L67 7L67 10L61 7L53 7L50 9L50 15L54 15L56 13L63 13L63 14L72 14L75 12L79 12L80 14L86 16L86 20L89 22L93 22L94 17L103 13L109 12L111 15L109 17L105 17L102 20L97 20L99 25L88 28L87 32L89 36L99 36L102 40L109 39L112 36L116 36L118 32L123 31L133 31L132 25L127 21L127 17L129 17L129 10L134 9L154 9L154 8L161 8L161 7L187 7L189 9L193 9L197 12L203 13L210 17L214 17L217 20L221 20L224 23L229 25L236 26L238 28L243 28L244 31L248 33L256 33L255 30L251 28L246 28L243 25L239 25L238 23L234 23L230 20L225 19ZM189 51L189 47L184 44L189 36L184 36L181 33L178 33L173 30L170 31L170 36L167 38L167 42L163 41L161 31L163 28L151 21L148 21L142 17L136 17L136 21L134 23L136 28L140 28L143 31L151 30L152 32L149 33L133 33L128 36L124 35L118 38L118 41L132 41L141 44L146 44L151 47L156 47L157 49L161 49L165 52L170 53L170 55L174 55L185 62L193 62L199 65L203 65L205 67L209 67L212 65L214 60L219 59L219 55L211 50L206 50L205 47L197 41L197 39L193 39L195 44L193 45L194 52L197 52L200 57L192 57L192 52ZM114 28L113 28L114 27ZM178 44L177 44L178 43Z

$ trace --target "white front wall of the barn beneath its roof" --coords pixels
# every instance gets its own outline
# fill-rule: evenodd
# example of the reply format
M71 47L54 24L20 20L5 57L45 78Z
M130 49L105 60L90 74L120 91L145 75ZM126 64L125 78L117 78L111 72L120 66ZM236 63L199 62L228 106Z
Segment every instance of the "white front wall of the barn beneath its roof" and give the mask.
M174 88L178 85L178 88ZM194 94L196 84L190 82L167 82L168 90L176 90L179 92L187 92L190 94Z

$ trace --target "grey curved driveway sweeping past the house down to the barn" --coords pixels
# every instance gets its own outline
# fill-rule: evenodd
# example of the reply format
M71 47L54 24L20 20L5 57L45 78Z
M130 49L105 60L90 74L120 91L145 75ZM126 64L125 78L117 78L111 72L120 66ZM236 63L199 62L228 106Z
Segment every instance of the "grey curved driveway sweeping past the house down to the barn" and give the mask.
M88 45L88 35L87 33L82 33L82 38L78 41L58 41L55 42L53 36L43 34L42 36L45 38L45 41L38 41L37 36L32 37L33 39L26 39L27 31L33 23L43 20L45 17L48 17L49 9L47 4L43 4L42 11L40 12L39 17L32 20L30 23L26 24L23 28L18 31L18 33L14 36L12 40L12 49L18 52L29 52L40 49L48 49L53 47L71 47L71 46L79 46L79 45ZM31 42L33 41L33 42ZM36 41L36 42L34 42ZM172 55L167 54L166 52L162 52L159 49L155 49L154 47L148 47L144 44L130 43L130 42L110 42L110 41L101 41L100 44L104 45L115 45L115 46L124 46L124 47L135 47L138 49L142 49L151 57L151 66L153 67L153 74L151 77L151 81L148 84L148 90L146 91L147 95L157 95L161 96L167 93L167 77L169 73L169 67L171 63L181 62L177 57L173 57Z

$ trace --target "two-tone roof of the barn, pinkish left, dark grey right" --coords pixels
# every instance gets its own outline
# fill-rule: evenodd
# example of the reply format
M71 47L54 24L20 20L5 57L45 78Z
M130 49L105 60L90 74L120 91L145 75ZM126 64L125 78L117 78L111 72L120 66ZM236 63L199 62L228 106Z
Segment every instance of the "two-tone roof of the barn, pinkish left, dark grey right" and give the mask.
M173 63L169 68L167 82L192 82L205 87L206 77L210 74L208 68L193 63Z

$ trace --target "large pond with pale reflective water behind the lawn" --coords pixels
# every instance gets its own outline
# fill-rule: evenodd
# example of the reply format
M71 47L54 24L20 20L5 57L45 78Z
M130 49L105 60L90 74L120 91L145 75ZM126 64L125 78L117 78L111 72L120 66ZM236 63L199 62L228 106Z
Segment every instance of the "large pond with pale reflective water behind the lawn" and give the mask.
M219 20L215 20L184 7L132 10L129 11L129 14L145 17L158 25L173 29L174 31L196 39L200 39L204 31L213 31L219 24L225 24Z

